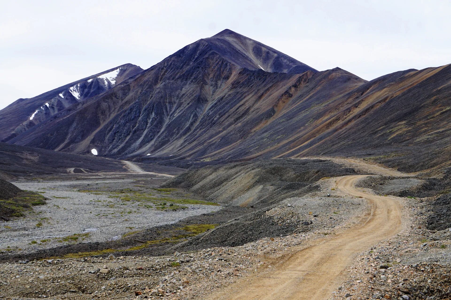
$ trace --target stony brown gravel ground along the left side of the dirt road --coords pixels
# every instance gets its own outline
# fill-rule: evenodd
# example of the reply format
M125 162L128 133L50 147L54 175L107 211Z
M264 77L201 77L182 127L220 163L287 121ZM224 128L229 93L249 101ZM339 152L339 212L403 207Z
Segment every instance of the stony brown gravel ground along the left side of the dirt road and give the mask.
M295 226L297 232L289 236L160 257L3 263L0 295L3 299L204 299L243 276L256 271L270 273L281 257L349 226L350 220L361 215L364 202L336 193L330 188L331 180L320 181L321 192L291 198L265 213L264 218L272 218L281 226ZM304 224L306 220L308 225Z

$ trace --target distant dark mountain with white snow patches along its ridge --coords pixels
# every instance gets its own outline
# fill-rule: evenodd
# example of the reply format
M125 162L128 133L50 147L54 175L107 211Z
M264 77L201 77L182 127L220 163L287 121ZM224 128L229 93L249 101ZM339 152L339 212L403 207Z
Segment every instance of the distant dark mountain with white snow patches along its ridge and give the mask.
M0 111L0 141L8 141L64 108L97 96L141 71L127 63L33 98L18 99Z

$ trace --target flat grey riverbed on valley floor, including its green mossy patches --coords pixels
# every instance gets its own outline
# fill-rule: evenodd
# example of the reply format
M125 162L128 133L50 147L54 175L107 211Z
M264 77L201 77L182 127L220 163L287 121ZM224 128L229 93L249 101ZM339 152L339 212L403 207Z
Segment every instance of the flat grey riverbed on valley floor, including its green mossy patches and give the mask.
M159 191L156 187L166 180L166 175L142 172L15 181L17 187L41 193L47 201L34 206L25 218L0 225L0 251L20 255L77 242L113 241L221 209L216 205L180 204L186 202L189 193Z

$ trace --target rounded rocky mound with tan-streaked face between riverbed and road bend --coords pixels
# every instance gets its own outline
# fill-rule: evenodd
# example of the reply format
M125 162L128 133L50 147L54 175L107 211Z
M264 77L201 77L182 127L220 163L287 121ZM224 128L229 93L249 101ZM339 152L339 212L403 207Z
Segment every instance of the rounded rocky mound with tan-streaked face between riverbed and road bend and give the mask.
M207 201L230 206L266 207L316 189L324 177L357 174L331 161L275 159L206 166L181 174L163 184L187 188Z

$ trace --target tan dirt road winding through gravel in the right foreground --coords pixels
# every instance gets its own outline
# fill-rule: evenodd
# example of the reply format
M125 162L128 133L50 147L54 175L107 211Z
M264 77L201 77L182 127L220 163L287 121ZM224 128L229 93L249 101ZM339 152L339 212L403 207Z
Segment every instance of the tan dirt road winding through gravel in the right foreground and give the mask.
M394 175L392 170L380 166L377 166L377 171ZM355 188L355 183L366 176L370 175L336 178L336 188L341 192L368 201L369 209L359 224L333 237L318 239L313 242L313 246L291 255L271 273L256 273L241 279L208 299L329 299L331 292L342 282L346 267L352 263L356 253L401 230L401 205L396 197L376 196Z

